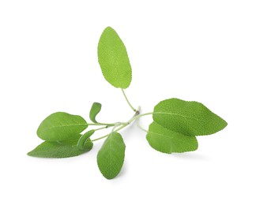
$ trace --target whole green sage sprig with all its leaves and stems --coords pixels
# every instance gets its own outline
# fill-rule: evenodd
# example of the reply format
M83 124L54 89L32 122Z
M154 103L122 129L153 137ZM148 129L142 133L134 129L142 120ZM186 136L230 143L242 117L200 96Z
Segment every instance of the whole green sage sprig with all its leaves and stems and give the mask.
M100 36L98 60L104 78L115 88L120 88L134 116L126 122L101 123L96 120L101 104L93 103L88 123L78 115L57 112L46 117L37 136L44 140L28 155L40 158L68 158L90 151L93 142L105 139L97 155L100 172L107 179L116 177L122 169L126 145L119 131L139 117L152 115L146 139L156 151L172 152L195 151L198 149L196 136L210 135L224 129L228 124L213 114L201 103L182 99L165 99L158 103L151 113L140 114L140 107L134 108L126 97L124 89L130 86L132 69L126 47L113 28L107 27ZM99 127L88 129L88 127ZM88 131L85 132L85 129ZM100 129L110 129L105 136L92 139Z

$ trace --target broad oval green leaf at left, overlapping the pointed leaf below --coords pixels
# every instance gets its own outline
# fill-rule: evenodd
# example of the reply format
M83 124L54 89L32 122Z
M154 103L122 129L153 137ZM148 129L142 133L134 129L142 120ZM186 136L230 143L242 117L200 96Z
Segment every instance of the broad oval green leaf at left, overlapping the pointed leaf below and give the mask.
M42 121L37 129L37 136L46 141L68 140L80 134L87 127L87 122L83 117L58 112Z

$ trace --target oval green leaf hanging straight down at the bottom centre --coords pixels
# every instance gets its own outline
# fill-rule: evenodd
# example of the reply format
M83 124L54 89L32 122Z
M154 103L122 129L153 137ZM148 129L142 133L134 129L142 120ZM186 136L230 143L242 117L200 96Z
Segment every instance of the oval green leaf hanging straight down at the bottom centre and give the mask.
M118 132L111 132L97 155L100 172L107 179L116 177L122 169L126 145Z

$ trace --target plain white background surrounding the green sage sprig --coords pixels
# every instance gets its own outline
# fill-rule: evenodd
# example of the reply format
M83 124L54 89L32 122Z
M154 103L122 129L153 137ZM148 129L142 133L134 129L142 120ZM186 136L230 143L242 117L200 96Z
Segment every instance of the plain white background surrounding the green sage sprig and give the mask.
M255 10L247 0L2 0L0 203L255 204ZM165 155L133 125L122 131L126 160L111 181L96 165L102 141L75 158L28 157L41 143L38 125L53 112L88 120L100 102L101 121L133 114L97 62L107 26L126 44L134 106L149 112L163 99L195 100L228 127L198 137L198 151Z

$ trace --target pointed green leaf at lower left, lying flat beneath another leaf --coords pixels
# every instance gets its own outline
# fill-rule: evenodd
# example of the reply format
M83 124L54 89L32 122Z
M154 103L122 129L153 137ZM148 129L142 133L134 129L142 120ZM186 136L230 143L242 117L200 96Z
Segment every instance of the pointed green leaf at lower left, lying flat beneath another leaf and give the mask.
M77 147L77 141L81 135L77 135L70 140L63 140L59 142L43 142L34 150L28 152L29 156L39 158L69 158L81 155L92 149L92 141L87 140L85 149L80 150Z

